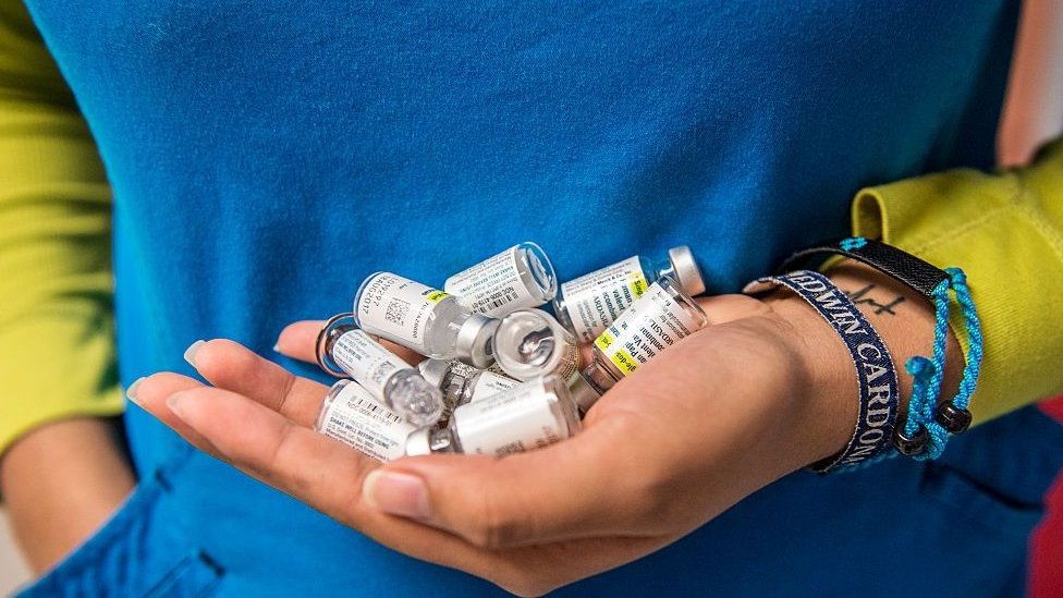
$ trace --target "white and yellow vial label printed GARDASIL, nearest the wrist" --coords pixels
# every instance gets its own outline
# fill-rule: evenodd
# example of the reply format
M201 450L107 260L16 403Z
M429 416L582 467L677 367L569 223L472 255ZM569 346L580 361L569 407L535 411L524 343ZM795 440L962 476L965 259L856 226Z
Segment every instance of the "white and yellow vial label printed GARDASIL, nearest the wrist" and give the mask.
M595 340L595 346L627 376L699 328L700 320L655 283Z

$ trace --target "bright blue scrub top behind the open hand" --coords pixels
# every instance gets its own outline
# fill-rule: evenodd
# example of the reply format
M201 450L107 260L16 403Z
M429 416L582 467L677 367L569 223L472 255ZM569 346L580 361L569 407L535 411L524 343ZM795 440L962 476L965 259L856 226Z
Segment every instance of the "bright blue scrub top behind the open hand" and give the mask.
M736 291L847 233L862 186L990 167L1017 15L1010 0L27 4L113 186L125 383L192 374L197 339L269 354L371 271L439 285L524 240L562 280L688 244L710 292ZM135 407L126 423L140 487L30 594L500 594ZM1023 410L938 463L798 472L561 594L1022 591L1061 449Z

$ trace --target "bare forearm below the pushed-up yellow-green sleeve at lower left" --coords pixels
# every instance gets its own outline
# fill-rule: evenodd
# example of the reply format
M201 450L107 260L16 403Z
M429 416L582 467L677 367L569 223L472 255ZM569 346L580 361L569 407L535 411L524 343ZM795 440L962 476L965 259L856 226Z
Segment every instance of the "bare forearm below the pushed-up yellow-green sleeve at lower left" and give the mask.
M135 485L117 425L103 418L46 424L0 460L4 507L35 572L83 542Z

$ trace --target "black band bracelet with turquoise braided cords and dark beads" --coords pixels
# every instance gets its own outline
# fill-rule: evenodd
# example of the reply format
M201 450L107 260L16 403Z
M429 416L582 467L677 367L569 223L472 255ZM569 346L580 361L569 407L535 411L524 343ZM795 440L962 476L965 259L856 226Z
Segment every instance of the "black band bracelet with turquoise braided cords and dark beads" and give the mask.
M816 245L793 254L780 266L780 271L821 264L830 255L856 259L903 282L929 298L934 305L934 334L931 358L916 355L904 368L913 376L912 400L903 427L894 434L901 454L918 460L937 459L944 451L949 435L961 434L970 426L970 396L975 392L981 370L981 322L975 309L967 277L960 268L941 270L897 247L863 236ZM938 404L944 377L945 341L949 332L949 291L963 309L967 332L967 363L964 366L960 391L950 401Z

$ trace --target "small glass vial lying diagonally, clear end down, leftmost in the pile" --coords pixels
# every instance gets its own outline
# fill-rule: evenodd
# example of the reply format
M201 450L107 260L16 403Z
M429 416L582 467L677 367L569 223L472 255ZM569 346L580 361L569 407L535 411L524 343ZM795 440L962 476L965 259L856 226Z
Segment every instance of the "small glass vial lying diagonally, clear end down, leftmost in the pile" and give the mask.
M351 376L417 426L435 424L443 413L439 389L359 329L351 314L334 316L321 329L317 361L329 374Z

